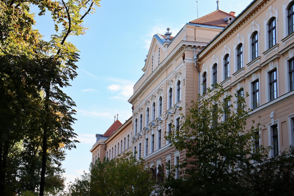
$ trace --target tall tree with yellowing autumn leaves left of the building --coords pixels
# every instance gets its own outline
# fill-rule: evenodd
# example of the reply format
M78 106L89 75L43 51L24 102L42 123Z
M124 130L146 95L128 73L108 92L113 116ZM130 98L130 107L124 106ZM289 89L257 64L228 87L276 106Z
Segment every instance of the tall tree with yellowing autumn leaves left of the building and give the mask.
M21 177L13 168L20 163L10 156L16 144L34 145L33 154L42 158L40 195L44 194L48 153L60 144L75 147L76 133L71 128L75 104L61 88L77 76L78 50L66 38L85 33L83 19L99 6L98 1L0 1L1 195L19 186L10 183ZM49 42L32 28L32 5L39 7L39 15L50 12L55 22L57 34ZM40 92L44 93L40 96Z

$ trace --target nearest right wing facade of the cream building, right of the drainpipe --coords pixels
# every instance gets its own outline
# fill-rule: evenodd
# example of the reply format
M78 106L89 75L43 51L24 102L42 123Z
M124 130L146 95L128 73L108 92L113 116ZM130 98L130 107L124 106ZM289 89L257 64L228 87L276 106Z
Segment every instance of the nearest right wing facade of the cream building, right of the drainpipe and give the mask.
M247 126L261 124L259 145L272 147L270 157L294 145L293 7L291 0L255 0L197 54L200 98L214 82L227 95L248 92Z

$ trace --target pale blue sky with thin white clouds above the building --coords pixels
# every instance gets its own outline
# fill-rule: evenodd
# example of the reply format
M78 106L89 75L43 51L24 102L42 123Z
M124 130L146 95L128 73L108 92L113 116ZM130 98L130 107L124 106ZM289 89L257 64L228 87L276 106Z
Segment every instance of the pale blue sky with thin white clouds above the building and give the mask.
M250 2L220 0L219 8L235 11L237 16ZM121 123L132 116L128 99L143 74L152 36L166 33L167 27L175 36L186 23L197 19L196 0L101 0L100 5L84 19L83 25L89 28L86 34L67 40L80 50L81 58L77 78L63 89L77 105L74 117L78 120L73 128L81 142L66 151L62 167L67 181L88 171L95 134L105 133L117 114ZM216 0L198 0L198 18L216 8ZM36 21L44 39L50 38L54 33L50 15L37 16Z

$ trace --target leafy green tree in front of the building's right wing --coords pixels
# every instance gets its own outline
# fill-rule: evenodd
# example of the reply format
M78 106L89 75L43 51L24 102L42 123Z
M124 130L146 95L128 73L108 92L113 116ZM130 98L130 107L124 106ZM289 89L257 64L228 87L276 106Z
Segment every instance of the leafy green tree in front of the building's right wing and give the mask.
M199 102L193 102L182 117L180 134L168 136L178 150L185 150L183 177L169 177L163 185L166 195L247 195L238 184L240 170L252 170L252 160L261 160L266 149L252 150L259 124L246 130L243 96L224 97L220 85L208 89ZM237 107L233 107L237 105ZM225 118L225 120L223 120ZM253 122L255 124L255 122Z

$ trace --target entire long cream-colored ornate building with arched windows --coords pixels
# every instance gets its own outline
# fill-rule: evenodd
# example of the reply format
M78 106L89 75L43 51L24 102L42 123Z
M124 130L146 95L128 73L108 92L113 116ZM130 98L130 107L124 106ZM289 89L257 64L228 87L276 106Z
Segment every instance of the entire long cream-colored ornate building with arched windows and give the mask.
M270 156L293 145L293 4L255 0L237 17L216 10L187 23L174 37L169 28L154 35L144 73L128 100L133 116L110 136L97 138L92 163L98 152L101 160L131 153L146 167L163 166L168 175L167 166L186 157L165 136L174 131L171 125L181 126L181 114L213 83L231 95L249 93L248 127L253 119L261 123L259 145L272 146Z

